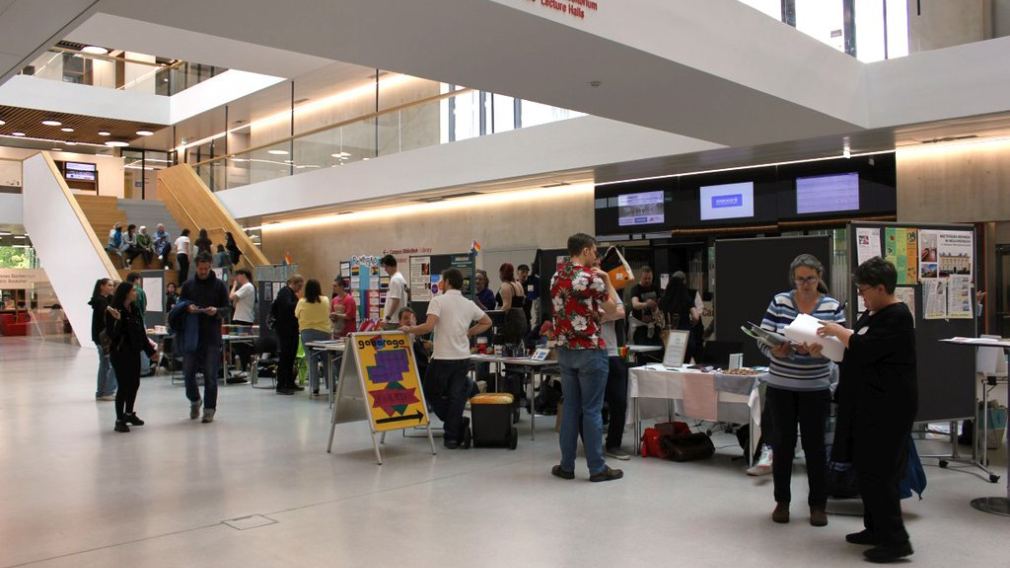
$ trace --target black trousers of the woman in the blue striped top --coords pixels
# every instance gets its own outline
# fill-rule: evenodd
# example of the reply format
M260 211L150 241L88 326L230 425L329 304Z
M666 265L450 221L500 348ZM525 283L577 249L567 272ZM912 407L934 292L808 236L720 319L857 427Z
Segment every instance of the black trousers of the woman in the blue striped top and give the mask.
M771 437L774 459L776 502L792 500L790 483L793 459L796 457L796 424L800 425L803 453L807 461L807 482L810 492L807 502L812 507L827 504L827 455L824 435L831 409L831 391L792 391L768 387L766 399L771 408Z

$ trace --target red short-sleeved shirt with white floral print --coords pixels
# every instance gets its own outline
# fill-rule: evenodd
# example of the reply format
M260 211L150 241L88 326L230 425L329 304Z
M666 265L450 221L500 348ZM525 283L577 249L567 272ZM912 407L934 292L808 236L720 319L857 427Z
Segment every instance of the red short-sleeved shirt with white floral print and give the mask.
M600 302L606 298L607 284L592 269L565 263L550 279L558 347L606 349L600 337Z

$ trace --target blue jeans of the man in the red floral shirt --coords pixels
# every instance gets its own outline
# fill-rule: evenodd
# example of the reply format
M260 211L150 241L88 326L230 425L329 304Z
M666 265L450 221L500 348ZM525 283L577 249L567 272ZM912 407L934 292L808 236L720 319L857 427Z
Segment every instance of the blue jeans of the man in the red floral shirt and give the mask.
M602 349L559 350L562 369L562 469L575 471L575 453L579 447L579 425L582 422L583 443L589 473L606 468L603 460L603 395L607 390L610 362Z

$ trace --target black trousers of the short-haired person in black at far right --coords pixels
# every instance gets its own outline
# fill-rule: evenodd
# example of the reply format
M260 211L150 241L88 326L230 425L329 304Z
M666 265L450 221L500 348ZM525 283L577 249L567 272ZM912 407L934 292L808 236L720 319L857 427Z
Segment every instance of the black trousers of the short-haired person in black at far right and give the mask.
M120 387L122 388L122 387ZM899 485L908 462L912 421L857 424L852 433L852 465L863 498L863 523L884 545L908 542L901 517ZM778 456L776 456L778 459Z

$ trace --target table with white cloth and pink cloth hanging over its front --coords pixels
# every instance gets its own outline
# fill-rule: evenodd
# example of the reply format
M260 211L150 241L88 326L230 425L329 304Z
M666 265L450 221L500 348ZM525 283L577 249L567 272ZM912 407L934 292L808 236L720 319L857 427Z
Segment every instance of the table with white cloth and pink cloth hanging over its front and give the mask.
M759 389L767 374L703 373L687 368L645 365L628 369L629 419L634 423L635 452L640 450L642 418L684 417L749 425L750 456L761 439Z

